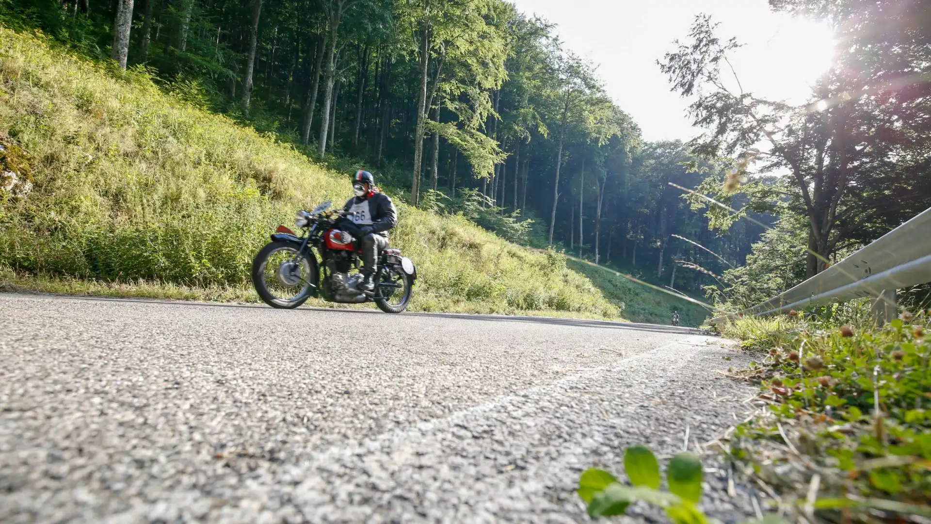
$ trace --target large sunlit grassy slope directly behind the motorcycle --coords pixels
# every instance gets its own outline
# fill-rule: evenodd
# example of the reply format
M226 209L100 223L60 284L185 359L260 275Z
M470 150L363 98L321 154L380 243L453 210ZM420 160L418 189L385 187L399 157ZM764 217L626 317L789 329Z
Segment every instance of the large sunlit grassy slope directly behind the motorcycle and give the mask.
M7 289L254 300L250 262L268 233L351 189L142 72L3 27L0 145L7 168L20 163L19 186L0 186ZM418 266L412 310L619 314L561 255L397 203L391 242Z

